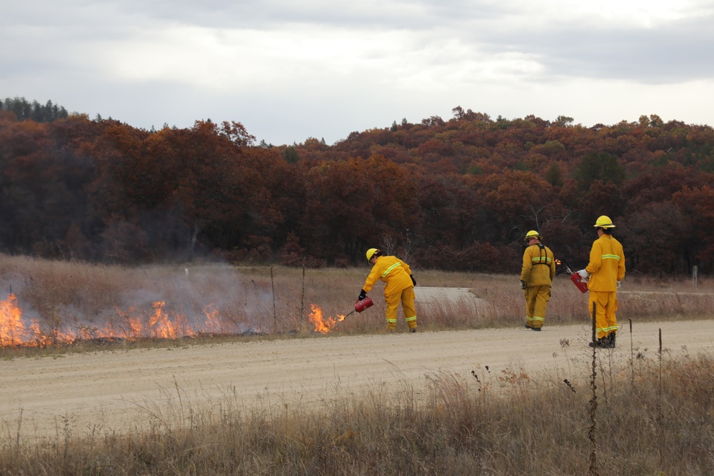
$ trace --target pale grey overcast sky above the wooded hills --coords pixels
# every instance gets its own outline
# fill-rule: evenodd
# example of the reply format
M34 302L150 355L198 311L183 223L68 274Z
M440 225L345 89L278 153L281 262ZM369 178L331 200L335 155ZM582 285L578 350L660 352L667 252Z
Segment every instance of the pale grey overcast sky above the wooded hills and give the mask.
M714 126L714 0L0 0L0 98L275 145L403 118Z

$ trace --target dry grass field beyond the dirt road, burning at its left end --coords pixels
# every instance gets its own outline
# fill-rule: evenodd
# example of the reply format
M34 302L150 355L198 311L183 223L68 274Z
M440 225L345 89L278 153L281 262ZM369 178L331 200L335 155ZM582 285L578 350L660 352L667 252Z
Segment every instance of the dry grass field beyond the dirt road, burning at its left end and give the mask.
M0 255L0 353L20 348L153 345L170 340L375 333L384 327L381 288L375 305L353 313L368 268L178 265L124 268ZM518 326L523 295L516 275L415 270L421 286L468 288L480 300L444 298L418 306L421 330ZM713 285L700 279L625 280L621 320L711 318ZM417 298L419 288L416 288ZM586 296L556 278L546 325L587 319ZM398 330L406 328L398 320Z

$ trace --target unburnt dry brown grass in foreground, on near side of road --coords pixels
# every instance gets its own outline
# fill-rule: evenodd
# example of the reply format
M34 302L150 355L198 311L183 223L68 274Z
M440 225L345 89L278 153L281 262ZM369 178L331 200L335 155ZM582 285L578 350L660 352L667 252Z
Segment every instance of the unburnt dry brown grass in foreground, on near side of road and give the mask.
M598 381L596 474L714 473L714 360L640 360ZM634 370L630 377L630 370ZM373 385L321 407L209 405L176 385L129 435L0 440L0 475L585 475L590 472L587 381L522 370L428 375L426 395Z

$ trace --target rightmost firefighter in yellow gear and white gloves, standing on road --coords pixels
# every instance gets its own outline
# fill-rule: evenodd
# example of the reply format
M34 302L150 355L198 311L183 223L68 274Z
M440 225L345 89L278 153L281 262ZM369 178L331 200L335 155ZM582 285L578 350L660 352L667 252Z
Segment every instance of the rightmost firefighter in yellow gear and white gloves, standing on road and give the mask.
M595 319L598 341L595 347L614 348L618 321L618 288L625 278L625 253L623 245L613 238L613 221L608 216L600 216L595 221L598 239L590 250L590 262L578 274L588 280L588 310ZM595 303L595 316L593 316ZM590 343L593 346L593 343Z

